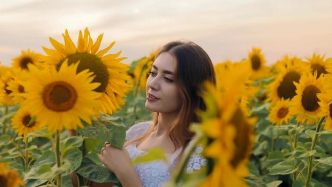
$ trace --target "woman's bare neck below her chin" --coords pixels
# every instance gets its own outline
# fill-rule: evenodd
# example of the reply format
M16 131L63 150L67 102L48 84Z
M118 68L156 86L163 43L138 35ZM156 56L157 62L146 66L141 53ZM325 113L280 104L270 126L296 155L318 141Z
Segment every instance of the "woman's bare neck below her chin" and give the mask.
M155 136L168 136L169 129L171 128L177 113L159 113L158 122L154 131Z

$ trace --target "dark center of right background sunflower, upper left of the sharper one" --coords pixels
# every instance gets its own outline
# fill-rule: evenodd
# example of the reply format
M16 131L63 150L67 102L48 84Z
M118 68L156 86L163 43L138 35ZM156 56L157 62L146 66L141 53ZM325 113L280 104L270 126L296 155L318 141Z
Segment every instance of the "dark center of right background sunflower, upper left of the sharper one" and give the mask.
M277 88L279 98L292 99L296 95L296 86L293 81L299 83L300 78L301 75L297 71L289 71L286 73Z

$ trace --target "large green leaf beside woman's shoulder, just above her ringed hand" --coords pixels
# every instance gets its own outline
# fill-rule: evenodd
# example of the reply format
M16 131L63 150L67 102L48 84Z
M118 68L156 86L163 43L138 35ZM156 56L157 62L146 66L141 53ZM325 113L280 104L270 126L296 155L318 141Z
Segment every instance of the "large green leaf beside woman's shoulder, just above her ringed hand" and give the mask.
M114 147L122 149L126 137L126 128L120 118L105 117L93 121L92 125L83 122L85 128L79 129L80 135L87 138L110 142Z

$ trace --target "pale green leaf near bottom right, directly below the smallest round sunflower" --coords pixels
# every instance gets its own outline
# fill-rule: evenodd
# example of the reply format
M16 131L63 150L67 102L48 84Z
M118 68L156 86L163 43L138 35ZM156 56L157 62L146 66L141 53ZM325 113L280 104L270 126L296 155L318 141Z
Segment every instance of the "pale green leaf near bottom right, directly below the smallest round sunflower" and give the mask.
M282 161L276 165L274 165L272 168L270 168L270 175L285 175L294 173L296 168L296 159L293 157L289 157L287 160Z

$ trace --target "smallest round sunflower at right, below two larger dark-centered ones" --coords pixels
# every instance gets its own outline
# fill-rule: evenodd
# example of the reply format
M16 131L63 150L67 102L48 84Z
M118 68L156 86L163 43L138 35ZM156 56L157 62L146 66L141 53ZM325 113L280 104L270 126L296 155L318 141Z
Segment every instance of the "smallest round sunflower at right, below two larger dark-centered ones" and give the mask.
M268 115L270 117L271 123L282 125L282 122L288 124L288 120L293 117L289 112L289 99L283 100L283 98L277 102L270 111Z

